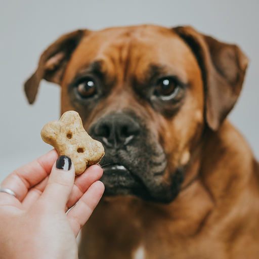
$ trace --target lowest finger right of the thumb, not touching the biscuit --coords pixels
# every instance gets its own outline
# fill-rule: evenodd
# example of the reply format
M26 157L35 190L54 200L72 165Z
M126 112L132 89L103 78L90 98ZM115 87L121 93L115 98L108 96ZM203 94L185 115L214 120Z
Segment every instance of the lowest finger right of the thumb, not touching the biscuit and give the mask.
M68 211L67 217L75 236L78 235L81 227L88 221L93 210L100 201L103 192L104 185L102 182L97 181L93 183L87 192L85 192L79 199L76 205Z

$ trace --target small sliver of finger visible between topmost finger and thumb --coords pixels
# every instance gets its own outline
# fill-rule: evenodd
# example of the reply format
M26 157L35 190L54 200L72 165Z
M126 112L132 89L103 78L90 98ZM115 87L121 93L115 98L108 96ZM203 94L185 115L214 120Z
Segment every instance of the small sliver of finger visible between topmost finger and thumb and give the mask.
M29 189L26 197L22 201L22 205L25 209L29 208L32 204L34 204L37 201L37 199L41 196L42 192L47 186L48 180L49 180L49 176L47 176L39 184Z

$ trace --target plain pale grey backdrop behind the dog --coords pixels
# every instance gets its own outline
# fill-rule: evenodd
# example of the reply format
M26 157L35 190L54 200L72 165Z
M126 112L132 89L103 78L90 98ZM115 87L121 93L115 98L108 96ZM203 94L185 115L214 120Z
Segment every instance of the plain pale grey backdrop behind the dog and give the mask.
M60 117L60 90L41 82L30 106L24 81L38 58L63 33L143 23L192 25L222 41L236 43L250 59L244 88L230 115L259 158L258 0L0 0L0 182L13 169L52 147L41 128Z

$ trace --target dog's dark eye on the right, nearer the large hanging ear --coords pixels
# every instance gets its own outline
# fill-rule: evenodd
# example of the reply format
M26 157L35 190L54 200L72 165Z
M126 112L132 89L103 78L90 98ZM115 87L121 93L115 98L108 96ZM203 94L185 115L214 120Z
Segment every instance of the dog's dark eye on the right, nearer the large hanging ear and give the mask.
M180 90L180 86L173 78L163 78L158 81L154 95L162 100L170 100L175 98Z

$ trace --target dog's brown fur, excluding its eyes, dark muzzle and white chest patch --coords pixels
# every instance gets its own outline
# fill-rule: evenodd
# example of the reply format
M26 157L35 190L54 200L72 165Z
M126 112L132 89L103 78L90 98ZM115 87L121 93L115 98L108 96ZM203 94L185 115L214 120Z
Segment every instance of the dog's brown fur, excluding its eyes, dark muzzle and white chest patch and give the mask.
M93 61L102 61L107 94L85 107L68 88ZM153 63L188 83L174 112L141 97ZM82 230L80 258L130 259L140 246L149 259L258 257L259 166L225 119L240 94L246 66L237 46L191 27L79 30L42 54L25 84L30 103L45 78L61 85L61 112L76 110L86 129L105 114L134 110L166 154L164 182L177 166L185 169L181 191L169 204L128 196L102 199Z

